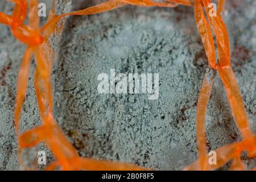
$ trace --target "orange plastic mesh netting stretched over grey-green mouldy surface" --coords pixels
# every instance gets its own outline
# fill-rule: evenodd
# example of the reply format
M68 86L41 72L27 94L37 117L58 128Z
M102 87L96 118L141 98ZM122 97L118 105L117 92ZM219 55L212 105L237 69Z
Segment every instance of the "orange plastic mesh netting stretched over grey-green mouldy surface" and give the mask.
M75 148L65 137L63 131L53 118L53 96L51 85L51 67L55 52L49 43L51 34L60 35L64 26L64 21L60 22L68 15L89 15L103 13L105 11L117 9L125 5L135 6L162 6L175 7L178 5L191 6L195 10L195 21L200 33L205 53L208 58L209 68L205 71L203 84L200 91L196 110L196 138L199 150L199 158L196 162L186 167L185 170L209 170L217 169L232 160L232 170L243 170L246 167L241 160L242 151L247 151L250 158L256 156L256 135L251 133L245 106L238 88L236 77L230 66L230 48L228 30L222 20L225 0L219 0L217 11L212 16L208 12L212 11L210 0L166 0L155 2L151 0L109 0L96 6L88 7L84 10L73 11L57 16L54 12L55 2L53 1L51 11L48 15L47 23L39 27L38 0L10 0L14 3L12 15L0 12L0 23L10 27L11 32L20 42L27 45L24 52L20 70L18 73L17 93L14 110L14 124L18 137L19 164L24 169L28 169L22 160L24 148L32 147L39 142L44 142L52 151L56 161L49 164L46 169L53 170L60 167L63 170L142 170L144 168L133 164L110 162L107 160L95 160L81 158ZM28 12L27 12L28 11ZM205 12L207 15L205 15ZM24 24L28 16L28 25ZM216 61L213 34L216 36L218 60ZM23 102L26 97L28 85L28 71L31 57L36 60L34 85L36 98L40 111L42 125L24 133L19 131L19 118L22 111ZM217 163L208 163L208 151L205 136L205 113L214 82L216 72L220 75L228 96L230 109L234 121L241 132L240 142L228 144L216 149Z

